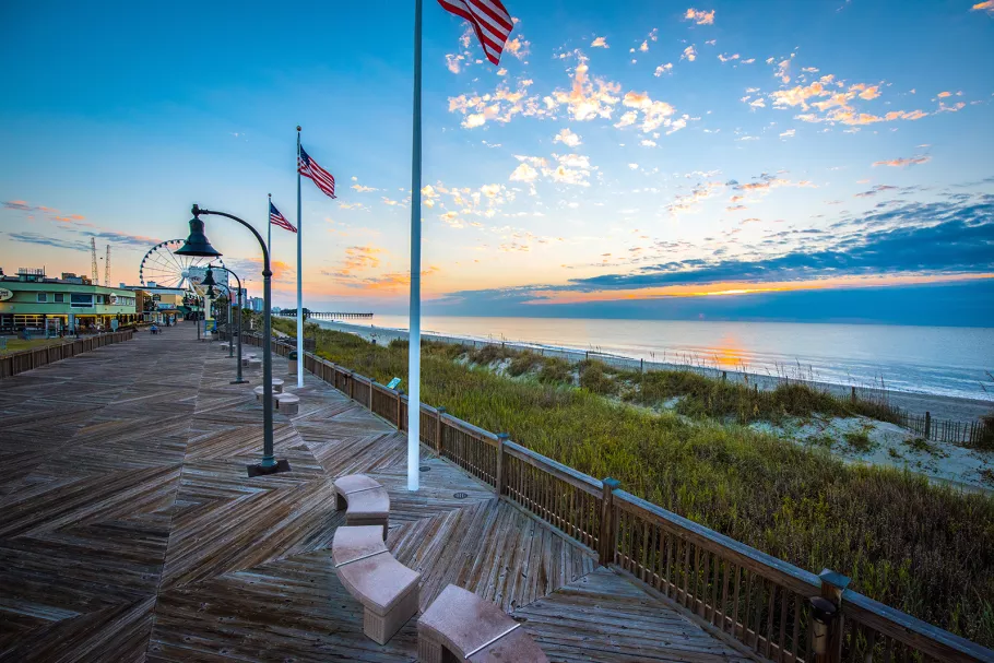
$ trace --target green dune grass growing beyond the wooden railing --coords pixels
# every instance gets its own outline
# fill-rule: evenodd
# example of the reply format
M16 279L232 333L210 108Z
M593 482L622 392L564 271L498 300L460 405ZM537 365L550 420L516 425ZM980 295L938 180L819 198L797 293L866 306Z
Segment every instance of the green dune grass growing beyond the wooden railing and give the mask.
M283 322L276 327L293 333ZM319 354L336 364L382 382L406 381L406 343L375 346L317 328L310 335L318 336ZM815 572L832 568L877 601L994 644L994 499L910 473L847 465L823 450L713 415L748 421L764 413L833 412L837 402L796 388L745 401L727 384L703 383L707 378L693 374L650 374L635 390L624 379L608 380L610 369L595 365L580 367L575 388L566 386L573 367L561 360L539 363L536 379L509 379L454 362L465 352L424 344L425 402L592 476L618 478L626 490L770 555ZM490 346L473 359L506 358L509 371L516 362L519 375L531 370L521 368L531 359L504 352ZM602 395L627 393L639 402L678 391L691 394L682 404L689 402L687 413L698 421ZM743 402L753 410L743 410Z

